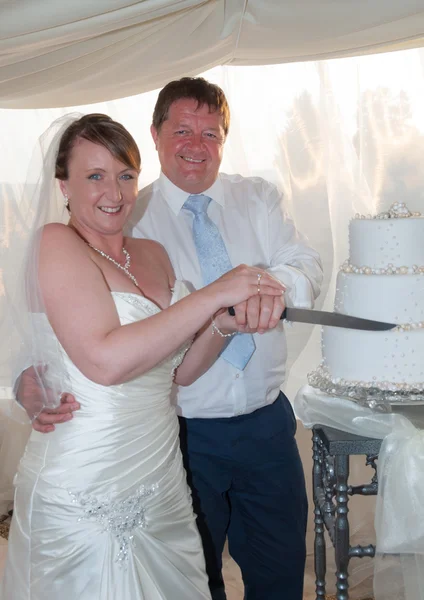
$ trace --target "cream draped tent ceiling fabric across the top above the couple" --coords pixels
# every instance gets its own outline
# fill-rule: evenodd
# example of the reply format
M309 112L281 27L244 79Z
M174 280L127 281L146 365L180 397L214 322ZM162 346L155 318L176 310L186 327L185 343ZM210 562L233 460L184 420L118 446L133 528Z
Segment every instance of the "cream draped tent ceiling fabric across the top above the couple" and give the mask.
M90 104L216 65L424 45L424 0L0 0L0 108Z

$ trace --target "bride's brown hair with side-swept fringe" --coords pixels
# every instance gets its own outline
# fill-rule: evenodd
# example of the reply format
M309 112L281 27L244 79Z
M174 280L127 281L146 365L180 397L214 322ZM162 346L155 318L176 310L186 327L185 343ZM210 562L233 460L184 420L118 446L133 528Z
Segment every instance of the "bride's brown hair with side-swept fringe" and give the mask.
M68 179L69 159L78 139L104 146L114 158L128 168L140 171L140 152L132 135L121 123L107 115L92 113L71 123L62 135L56 158L56 179Z

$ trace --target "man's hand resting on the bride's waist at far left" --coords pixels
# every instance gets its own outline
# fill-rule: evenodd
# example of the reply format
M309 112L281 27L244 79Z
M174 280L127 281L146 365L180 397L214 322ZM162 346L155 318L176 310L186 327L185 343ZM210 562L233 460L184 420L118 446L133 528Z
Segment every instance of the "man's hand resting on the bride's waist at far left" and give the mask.
M49 394L49 390L46 391ZM44 395L34 367L22 373L16 397L32 420L35 431L41 433L49 433L55 429L55 425L69 421L73 417L73 412L80 408L80 404L72 394L64 393L60 399L60 406L41 410Z

